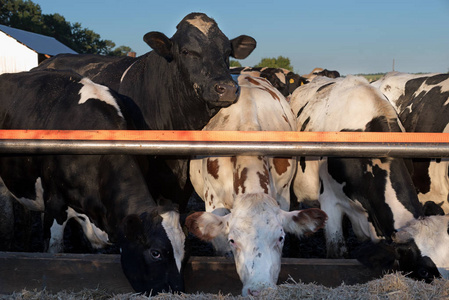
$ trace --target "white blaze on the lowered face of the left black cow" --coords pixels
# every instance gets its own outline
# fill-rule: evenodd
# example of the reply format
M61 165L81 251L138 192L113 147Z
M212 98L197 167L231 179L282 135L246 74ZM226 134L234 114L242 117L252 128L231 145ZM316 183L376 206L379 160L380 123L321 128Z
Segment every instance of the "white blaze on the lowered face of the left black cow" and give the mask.
M184 259L185 235L179 223L179 213L168 211L161 214L161 217L162 227L165 229L168 239L173 246L176 266L178 267L179 272L181 272L181 263Z

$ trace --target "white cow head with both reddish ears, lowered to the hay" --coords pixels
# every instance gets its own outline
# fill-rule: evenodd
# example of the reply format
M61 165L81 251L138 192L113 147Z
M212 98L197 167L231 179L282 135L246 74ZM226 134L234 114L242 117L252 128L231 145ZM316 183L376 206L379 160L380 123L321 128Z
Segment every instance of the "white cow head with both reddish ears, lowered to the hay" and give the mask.
M270 196L246 194L226 216L196 212L186 226L198 238L210 241L220 234L228 238L243 295L257 295L276 285L285 232L302 235L322 228L326 214L316 208L286 212Z

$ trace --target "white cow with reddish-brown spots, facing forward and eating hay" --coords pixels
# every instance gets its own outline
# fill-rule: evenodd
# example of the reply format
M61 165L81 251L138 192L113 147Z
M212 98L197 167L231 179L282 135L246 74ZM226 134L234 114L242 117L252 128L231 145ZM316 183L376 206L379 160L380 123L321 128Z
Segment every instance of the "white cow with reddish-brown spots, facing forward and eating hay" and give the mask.
M238 83L239 101L222 108L204 130L296 129L290 106L268 81L240 75ZM186 225L200 239L214 239L220 252L232 251L245 296L276 285L286 232L314 232L326 221L326 214L316 208L288 212L295 171L295 158L238 155L191 160L190 178L206 212L190 215Z

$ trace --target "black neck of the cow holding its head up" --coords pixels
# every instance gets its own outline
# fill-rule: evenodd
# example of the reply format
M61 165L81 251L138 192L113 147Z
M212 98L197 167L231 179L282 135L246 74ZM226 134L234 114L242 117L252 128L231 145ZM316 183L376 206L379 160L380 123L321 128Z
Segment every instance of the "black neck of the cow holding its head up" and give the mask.
M186 82L175 61L152 51L128 70L120 92L134 99L152 130L200 130L218 110L209 109Z

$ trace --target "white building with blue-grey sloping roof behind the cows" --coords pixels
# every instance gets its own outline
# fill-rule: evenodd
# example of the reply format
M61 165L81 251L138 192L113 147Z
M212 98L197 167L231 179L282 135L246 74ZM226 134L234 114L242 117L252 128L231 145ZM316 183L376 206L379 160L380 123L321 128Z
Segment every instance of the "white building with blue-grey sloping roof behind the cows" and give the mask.
M0 25L0 74L29 71L60 53L77 54L55 38Z

